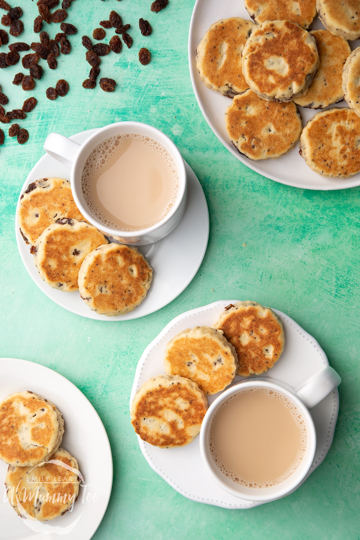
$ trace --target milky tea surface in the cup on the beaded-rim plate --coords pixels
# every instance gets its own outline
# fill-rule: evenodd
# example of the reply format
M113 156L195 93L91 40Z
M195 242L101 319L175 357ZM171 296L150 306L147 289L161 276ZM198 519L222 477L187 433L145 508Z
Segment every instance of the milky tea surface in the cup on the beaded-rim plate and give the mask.
M229 480L247 488L268 488L286 480L301 464L307 428L295 403L267 388L229 397L210 427L213 460Z

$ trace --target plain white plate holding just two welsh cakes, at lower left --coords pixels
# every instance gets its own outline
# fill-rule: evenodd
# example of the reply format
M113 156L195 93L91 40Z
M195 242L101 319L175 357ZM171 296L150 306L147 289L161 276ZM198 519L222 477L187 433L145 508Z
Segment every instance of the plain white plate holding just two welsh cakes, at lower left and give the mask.
M112 486L110 444L96 410L65 377L34 362L0 358L0 373L0 400L31 390L56 404L65 425L61 447L76 458L84 477L71 512L44 523L30 521L11 508L3 485L8 465L0 461L0 538L55 540L66 535L66 540L89 540L103 519Z

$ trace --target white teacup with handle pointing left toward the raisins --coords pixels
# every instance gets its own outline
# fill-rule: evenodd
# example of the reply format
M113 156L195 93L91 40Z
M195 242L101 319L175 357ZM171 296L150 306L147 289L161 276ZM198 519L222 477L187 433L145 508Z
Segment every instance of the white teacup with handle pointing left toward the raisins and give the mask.
M81 190L81 173L90 153L102 141L109 137L124 133L137 133L157 140L171 154L179 171L178 197L176 198L173 207L164 219L152 227L140 231L117 231L104 225L103 222L99 221L93 215L89 210L89 207L87 207ZM185 164L173 141L155 127L140 122L117 122L116 124L101 127L81 145L58 133L50 133L45 140L44 150L50 154L50 156L60 161L60 163L71 167L71 191L77 207L87 221L98 228L99 231L109 237L112 241L133 246L153 244L153 242L157 242L166 237L174 230L176 225L179 224L185 211L187 197Z

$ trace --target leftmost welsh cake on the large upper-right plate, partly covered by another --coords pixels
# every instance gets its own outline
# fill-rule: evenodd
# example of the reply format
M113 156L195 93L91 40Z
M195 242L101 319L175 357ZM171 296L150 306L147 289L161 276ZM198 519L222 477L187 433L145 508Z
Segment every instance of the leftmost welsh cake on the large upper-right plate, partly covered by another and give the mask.
M208 88L232 98L249 87L242 75L241 51L255 26L240 17L210 26L196 51L196 68Z

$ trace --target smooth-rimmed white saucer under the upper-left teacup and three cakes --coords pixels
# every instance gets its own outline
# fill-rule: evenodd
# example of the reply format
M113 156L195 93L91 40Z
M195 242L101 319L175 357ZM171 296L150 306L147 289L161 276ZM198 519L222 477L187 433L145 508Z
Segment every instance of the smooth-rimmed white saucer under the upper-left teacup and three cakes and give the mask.
M83 143L96 130L83 131L70 137L77 143ZM138 249L144 254L153 268L151 287L143 300L134 311L117 317L106 317L91 311L81 300L79 292L64 293L51 288L39 276L30 254L30 246L26 245L19 231L17 210L21 193L31 182L38 178L57 176L70 179L70 168L62 165L56 159L45 154L32 168L28 178L19 194L16 208L15 232L19 253L26 270L29 272L36 285L59 306L97 321L126 321L137 319L153 313L172 302L176 296L189 285L201 265L206 252L209 238L209 213L205 195L198 178L192 168L186 163L188 180L187 204L184 216L179 225L167 237L150 244L139 246Z

